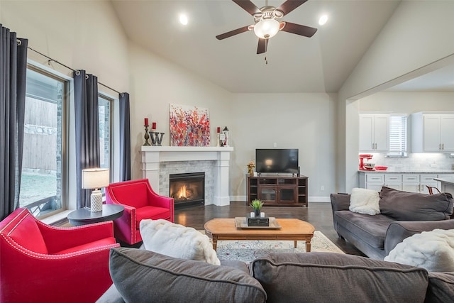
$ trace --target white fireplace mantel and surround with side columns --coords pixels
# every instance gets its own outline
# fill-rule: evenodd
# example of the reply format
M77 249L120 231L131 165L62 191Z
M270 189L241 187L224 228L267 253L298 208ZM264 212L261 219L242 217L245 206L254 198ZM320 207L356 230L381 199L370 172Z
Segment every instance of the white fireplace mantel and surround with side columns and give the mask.
M163 196L168 192L160 192L160 173L162 162L214 161L216 180L214 180L213 201L205 204L224 206L230 204L229 177L230 153L233 147L189 147L189 146L142 146L142 175L150 181L151 187Z

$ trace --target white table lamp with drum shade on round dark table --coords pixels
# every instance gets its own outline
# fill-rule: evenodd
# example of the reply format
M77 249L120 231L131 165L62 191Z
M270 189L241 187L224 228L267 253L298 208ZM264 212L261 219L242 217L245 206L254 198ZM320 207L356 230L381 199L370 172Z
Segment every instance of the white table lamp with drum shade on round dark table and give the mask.
M90 197L90 210L102 211L101 187L109 185L109 168L86 168L82 170L82 188L94 189Z

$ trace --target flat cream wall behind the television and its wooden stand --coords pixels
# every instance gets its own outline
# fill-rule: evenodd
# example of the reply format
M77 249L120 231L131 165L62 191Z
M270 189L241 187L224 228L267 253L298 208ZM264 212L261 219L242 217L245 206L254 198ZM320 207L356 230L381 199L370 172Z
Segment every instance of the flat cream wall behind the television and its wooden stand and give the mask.
M301 175L309 177L309 201L325 200L335 190L336 94L235 94L233 123L228 128L235 147L231 187L245 197L246 165L255 148L299 148ZM324 191L321 191L321 186Z

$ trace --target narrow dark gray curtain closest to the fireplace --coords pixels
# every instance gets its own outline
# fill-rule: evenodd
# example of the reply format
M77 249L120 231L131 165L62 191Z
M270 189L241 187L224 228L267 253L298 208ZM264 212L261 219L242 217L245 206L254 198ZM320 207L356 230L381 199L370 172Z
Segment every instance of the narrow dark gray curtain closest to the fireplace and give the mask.
M129 94L120 94L120 181L131 180L131 131Z

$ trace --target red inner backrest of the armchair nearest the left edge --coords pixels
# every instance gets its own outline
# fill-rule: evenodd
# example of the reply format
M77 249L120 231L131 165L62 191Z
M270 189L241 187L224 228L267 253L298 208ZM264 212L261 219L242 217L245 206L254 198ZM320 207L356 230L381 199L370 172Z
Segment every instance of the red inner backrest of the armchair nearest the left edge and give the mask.
M19 245L35 253L43 253L45 255L49 253L40 228L31 214L24 216L8 233L8 236Z

